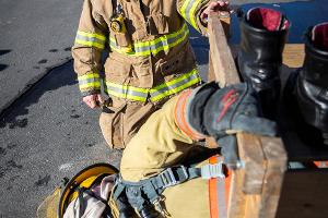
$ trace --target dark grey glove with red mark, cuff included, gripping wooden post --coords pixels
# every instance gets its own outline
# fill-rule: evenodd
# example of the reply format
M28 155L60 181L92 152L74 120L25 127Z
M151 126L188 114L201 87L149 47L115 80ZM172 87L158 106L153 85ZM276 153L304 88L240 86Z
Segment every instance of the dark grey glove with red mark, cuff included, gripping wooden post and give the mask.
M261 117L257 94L250 85L241 83L220 88L212 82L195 92L189 107L190 124L216 140L231 169L241 166L235 133L277 135L276 122Z

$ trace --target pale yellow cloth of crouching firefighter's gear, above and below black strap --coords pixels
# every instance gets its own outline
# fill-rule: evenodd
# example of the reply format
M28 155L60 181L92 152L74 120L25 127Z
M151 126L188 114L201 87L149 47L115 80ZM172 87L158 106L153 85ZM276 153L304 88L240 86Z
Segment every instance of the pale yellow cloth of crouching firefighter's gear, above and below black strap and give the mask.
M181 132L175 123L175 105L178 96L168 100L162 109L154 112L142 125L124 150L120 172L121 177L131 182L159 174L166 167L181 164L191 155L199 153L199 146ZM214 164L204 160L198 166ZM219 181L221 180L221 181ZM230 177L226 179L189 180L181 184L167 187L163 195L167 217L207 218L224 217ZM220 185L221 195L218 195ZM222 193L223 191L223 193ZM220 206L223 199L223 207ZM219 208L223 208L219 211Z

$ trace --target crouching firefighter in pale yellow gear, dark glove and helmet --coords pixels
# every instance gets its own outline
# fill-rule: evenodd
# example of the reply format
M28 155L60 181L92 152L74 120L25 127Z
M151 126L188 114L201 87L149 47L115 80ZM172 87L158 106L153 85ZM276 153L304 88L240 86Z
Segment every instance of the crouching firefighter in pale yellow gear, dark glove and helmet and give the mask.
M226 217L230 170L239 165L234 134L241 131L277 134L276 123L260 117L250 85L185 90L130 141L120 173L103 164L75 175L55 217ZM196 145L206 135L216 138L223 157Z

